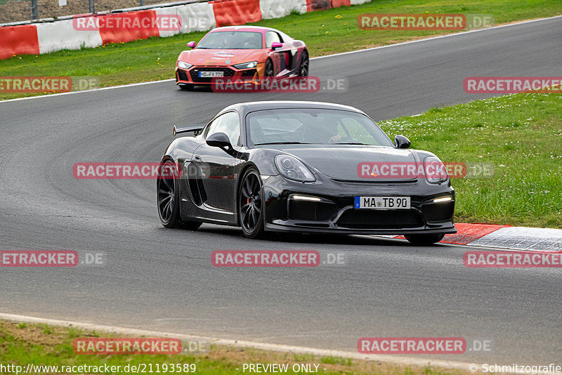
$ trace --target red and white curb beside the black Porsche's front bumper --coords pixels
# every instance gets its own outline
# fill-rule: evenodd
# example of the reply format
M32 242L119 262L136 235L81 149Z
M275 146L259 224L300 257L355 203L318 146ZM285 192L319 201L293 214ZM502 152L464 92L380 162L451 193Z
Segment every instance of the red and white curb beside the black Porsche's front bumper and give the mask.
M513 250L562 251L562 229L469 223L455 223L455 228L457 233L445 235L440 243Z

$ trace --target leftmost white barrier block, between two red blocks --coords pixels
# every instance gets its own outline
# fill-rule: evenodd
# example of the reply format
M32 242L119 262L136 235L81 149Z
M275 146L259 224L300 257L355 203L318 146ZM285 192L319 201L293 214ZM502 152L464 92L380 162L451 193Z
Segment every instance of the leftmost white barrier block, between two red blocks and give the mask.
M72 26L72 20L38 23L37 40L39 53L80 49L82 46L97 47L103 44L98 30L78 31Z

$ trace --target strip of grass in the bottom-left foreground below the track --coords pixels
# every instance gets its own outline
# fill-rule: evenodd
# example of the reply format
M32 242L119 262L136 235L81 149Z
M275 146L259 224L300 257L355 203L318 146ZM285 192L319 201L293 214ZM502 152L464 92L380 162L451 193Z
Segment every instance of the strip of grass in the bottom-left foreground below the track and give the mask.
M125 365L145 364L147 373L156 365L162 370L162 364L195 364L195 374L241 374L244 363L282 363L289 364L287 374L295 374L292 365L296 363L319 364L320 374L404 374L404 375L440 375L469 374L468 371L443 371L432 367L405 367L381 362L348 360L337 357L315 357L313 355L296 355L290 353L264 352L255 349L227 348L211 346L204 353L190 355L77 355L74 354L72 341L75 337L97 337L89 331L49 327L44 324L18 324L0 321L0 364L14 364L27 368L27 364L44 366L121 366L115 374L125 374ZM102 334L102 337L115 337ZM238 370L237 370L238 369ZM326 369L326 370L324 370ZM45 370L41 374L63 374ZM8 371L9 373L13 371ZM37 371L36 371L37 372ZM153 373L156 373L155 371ZM161 371L162 373L162 371ZM76 372L74 372L76 374ZM98 371L97 374L104 374ZM171 372L166 372L171 374ZM182 372L181 374L188 374Z

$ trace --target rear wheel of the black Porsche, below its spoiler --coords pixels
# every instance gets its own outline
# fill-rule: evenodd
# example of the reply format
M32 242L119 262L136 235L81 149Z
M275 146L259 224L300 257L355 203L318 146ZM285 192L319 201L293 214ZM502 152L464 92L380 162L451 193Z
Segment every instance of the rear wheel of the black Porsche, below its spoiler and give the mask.
M174 176L174 178L159 176L156 180L156 202L162 225L166 228L197 230L201 226L200 222L181 220L179 181L175 177L178 176L176 166L170 161L164 162L162 171L165 171L161 173L163 176Z

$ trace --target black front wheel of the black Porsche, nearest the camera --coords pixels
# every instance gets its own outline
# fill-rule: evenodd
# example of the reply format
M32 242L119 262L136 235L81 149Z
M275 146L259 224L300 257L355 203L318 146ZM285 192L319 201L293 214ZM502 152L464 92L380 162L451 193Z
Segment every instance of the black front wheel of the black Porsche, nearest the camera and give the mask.
M238 221L244 236L248 238L263 237L263 213L265 204L261 177L254 167L249 168L238 187Z

